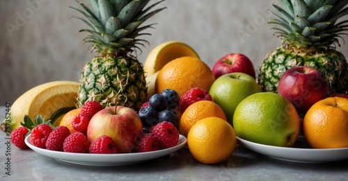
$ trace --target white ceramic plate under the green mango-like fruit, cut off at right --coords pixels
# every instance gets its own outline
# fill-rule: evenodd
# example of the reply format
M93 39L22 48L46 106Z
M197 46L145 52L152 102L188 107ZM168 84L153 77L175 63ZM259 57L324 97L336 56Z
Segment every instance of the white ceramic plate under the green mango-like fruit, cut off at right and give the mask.
M245 148L287 162L324 163L348 159L348 148L314 149L303 146L303 143L300 143L300 146L297 148L285 148L280 146L256 144L239 137L237 137L237 141ZM299 141L303 142L303 140Z

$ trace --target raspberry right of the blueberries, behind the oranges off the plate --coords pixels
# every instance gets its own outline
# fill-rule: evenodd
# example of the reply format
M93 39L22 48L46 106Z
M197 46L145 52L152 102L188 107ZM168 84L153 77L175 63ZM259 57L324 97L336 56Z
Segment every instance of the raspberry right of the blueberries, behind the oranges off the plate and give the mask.
M184 112L189 105L203 100L212 101L212 96L206 90L194 87L180 97L179 110Z

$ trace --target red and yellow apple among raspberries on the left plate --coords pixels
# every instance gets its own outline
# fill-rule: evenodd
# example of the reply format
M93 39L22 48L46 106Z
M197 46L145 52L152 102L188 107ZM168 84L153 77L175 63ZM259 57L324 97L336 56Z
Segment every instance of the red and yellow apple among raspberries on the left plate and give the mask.
M113 106L100 110L90 119L87 139L92 143L97 137L107 135L115 141L118 153L131 153L142 133L141 119L134 110Z

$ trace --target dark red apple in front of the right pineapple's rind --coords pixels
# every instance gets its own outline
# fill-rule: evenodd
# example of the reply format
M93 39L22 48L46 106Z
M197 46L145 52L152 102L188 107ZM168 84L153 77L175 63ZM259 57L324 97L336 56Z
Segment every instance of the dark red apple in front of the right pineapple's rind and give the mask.
M299 114L306 114L314 103L329 96L329 84L318 69L292 67L280 77L278 94L289 99Z

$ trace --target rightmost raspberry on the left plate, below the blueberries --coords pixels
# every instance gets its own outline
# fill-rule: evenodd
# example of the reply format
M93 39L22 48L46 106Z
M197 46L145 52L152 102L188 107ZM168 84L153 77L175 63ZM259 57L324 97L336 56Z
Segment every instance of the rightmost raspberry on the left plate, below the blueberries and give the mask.
M173 123L168 121L163 121L153 126L150 129L150 133L157 137L161 149L171 148L175 146L179 140L179 132L177 131L177 128L175 128Z

